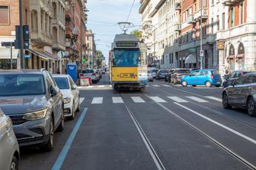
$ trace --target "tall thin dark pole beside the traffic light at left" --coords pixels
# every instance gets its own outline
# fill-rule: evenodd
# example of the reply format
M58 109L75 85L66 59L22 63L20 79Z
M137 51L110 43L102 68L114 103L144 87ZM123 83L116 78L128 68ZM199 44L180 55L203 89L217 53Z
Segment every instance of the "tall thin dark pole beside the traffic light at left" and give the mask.
M19 0L19 26L20 26L20 54L21 54L21 69L24 69L24 40L23 40L23 21L22 21L22 0Z

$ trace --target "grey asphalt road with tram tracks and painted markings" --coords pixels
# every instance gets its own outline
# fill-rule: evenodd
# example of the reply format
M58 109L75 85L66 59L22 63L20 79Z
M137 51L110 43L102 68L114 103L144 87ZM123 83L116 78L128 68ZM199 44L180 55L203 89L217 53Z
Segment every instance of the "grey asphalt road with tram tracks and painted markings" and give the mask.
M22 148L20 169L256 169L256 118L225 110L221 88L154 81L115 92L105 75L80 87L55 148Z

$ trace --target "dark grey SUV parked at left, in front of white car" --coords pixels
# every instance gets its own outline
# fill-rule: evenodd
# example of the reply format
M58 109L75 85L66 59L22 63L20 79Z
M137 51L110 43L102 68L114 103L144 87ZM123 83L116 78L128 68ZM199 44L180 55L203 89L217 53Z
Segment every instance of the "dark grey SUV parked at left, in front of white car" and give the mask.
M64 129L62 93L41 70L1 70L0 108L13 121L19 146L53 149L53 135Z

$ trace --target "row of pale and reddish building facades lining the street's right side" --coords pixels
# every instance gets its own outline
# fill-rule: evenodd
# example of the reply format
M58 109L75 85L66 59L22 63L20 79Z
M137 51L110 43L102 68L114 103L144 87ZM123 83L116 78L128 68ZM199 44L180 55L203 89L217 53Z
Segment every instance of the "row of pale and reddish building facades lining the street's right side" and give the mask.
M255 5L248 0L141 0L142 39L160 68L254 70ZM202 16L201 16L202 7ZM202 34L200 19L202 17ZM154 58L154 59L151 59Z

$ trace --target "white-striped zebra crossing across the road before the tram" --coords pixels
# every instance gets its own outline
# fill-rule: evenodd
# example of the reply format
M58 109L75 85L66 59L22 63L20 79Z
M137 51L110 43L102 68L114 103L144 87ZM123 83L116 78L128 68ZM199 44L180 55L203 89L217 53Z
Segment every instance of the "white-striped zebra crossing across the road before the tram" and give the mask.
M127 99L127 97L125 97ZM156 103L169 103L169 102L176 102L176 103L189 103L191 101L196 103L209 103L209 102L222 102L221 98L216 98L214 96L204 96L202 98L196 96L148 96L141 97L141 96L129 96L128 100L132 101L133 103L150 103L152 101ZM82 98L84 101L84 98ZM80 103L82 103L80 98ZM102 103L125 103L124 98L122 97L93 97L91 100L87 100L91 104L102 104Z

